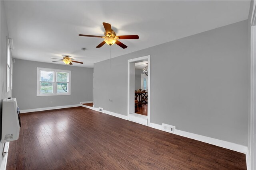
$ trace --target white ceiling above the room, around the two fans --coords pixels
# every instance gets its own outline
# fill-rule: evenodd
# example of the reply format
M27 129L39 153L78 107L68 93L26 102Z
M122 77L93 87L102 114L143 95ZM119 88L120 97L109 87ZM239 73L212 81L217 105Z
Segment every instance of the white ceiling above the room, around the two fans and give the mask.
M4 5L14 58L51 63L50 57L70 55L84 62L73 66L93 67L109 59L110 46L95 48L103 39L78 34L102 36L102 22L110 23L117 35L140 37L120 40L126 49L113 45L111 57L118 57L246 20L250 1L4 1Z

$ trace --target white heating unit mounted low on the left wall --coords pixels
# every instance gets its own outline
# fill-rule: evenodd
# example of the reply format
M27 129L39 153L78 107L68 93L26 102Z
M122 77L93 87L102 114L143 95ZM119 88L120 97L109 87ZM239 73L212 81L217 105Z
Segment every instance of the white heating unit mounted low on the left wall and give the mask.
M19 139L20 127L20 109L16 98L6 98L3 101L1 143Z

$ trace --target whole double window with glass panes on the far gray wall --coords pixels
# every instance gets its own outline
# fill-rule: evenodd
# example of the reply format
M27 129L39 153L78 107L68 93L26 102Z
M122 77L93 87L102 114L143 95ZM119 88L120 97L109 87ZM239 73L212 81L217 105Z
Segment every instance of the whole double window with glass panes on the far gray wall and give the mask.
M37 96L70 95L69 70L37 68Z

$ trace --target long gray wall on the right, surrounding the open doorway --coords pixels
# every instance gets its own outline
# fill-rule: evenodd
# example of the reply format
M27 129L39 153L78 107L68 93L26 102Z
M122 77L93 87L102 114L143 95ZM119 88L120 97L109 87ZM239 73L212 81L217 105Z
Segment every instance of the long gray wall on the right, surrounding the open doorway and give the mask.
M94 106L127 115L127 60L146 55L152 123L248 145L247 20L95 63Z

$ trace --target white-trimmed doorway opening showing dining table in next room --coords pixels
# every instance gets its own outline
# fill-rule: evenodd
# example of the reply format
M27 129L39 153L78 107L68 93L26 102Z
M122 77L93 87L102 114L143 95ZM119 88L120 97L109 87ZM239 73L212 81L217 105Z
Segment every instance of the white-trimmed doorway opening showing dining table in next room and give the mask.
M150 55L128 60L128 120L150 125Z

